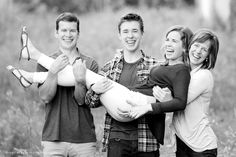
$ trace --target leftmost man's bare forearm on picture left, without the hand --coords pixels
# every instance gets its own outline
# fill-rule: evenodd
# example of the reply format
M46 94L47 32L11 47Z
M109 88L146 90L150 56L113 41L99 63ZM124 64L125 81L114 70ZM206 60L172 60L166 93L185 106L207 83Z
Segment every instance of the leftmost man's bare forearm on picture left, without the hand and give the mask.
M50 102L56 94L57 74L48 73L45 82L39 87L39 96L45 102Z

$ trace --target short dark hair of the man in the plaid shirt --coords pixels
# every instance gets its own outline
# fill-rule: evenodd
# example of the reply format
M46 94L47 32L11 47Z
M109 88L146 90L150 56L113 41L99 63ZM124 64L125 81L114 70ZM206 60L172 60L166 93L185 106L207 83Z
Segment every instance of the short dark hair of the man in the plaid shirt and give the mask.
M121 26L121 24L124 23L124 22L130 22L130 21L137 21L139 23L141 33L142 34L144 33L143 19L142 19L141 16L139 16L138 14L135 14L135 13L126 14L125 16L123 16L120 19L120 22L118 24L118 31L119 31L119 33L120 33L120 26Z

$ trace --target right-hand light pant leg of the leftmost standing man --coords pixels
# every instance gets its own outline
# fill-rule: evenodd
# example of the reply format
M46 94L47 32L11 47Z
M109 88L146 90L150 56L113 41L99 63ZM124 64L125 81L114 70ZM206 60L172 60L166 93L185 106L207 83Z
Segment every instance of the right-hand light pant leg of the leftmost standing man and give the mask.
M96 143L70 143L69 157L95 157Z

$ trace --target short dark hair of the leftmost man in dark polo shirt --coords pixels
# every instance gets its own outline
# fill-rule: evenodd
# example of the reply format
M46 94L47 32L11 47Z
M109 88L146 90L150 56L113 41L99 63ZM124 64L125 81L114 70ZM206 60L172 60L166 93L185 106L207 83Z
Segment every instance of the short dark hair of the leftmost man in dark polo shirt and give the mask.
M80 22L75 14L70 13L70 12L64 12L64 13L60 14L56 20L56 30L59 29L59 22L60 21L76 22L77 23L77 31L79 32L79 23Z

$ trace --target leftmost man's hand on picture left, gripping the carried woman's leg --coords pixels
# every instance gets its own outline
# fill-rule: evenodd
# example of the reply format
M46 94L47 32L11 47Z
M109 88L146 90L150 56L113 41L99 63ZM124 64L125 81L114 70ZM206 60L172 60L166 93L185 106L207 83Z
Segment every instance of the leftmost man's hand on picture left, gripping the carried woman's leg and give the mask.
M64 54L61 54L52 63L49 71L52 72L53 74L57 74L59 71L61 71L63 68L65 68L65 66L68 64L69 64L68 57Z

